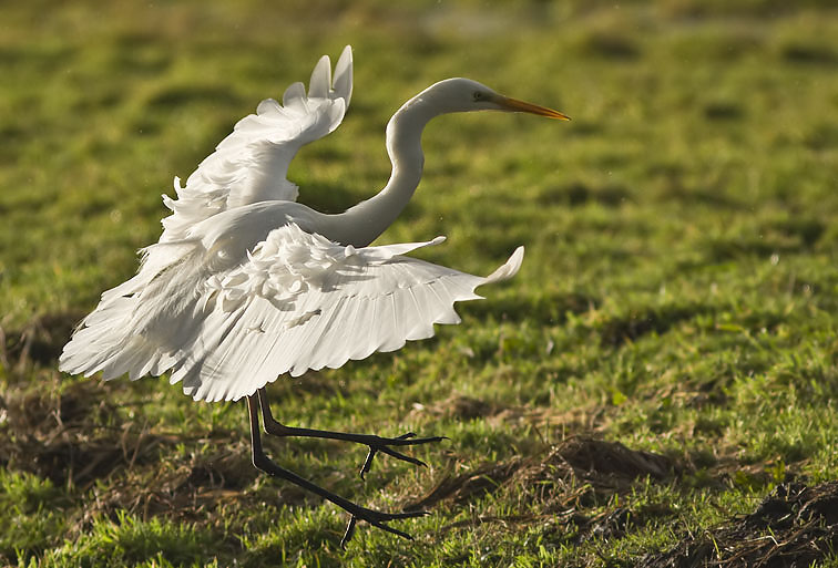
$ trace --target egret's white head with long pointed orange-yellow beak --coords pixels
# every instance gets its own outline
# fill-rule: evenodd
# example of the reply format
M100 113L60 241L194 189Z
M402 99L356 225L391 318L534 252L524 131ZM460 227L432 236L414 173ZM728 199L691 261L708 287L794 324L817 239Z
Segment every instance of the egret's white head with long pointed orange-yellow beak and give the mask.
M570 120L559 111L504 96L482 83L462 78L446 79L435 83L422 91L417 99L422 100L437 113L505 111L531 113L560 121Z

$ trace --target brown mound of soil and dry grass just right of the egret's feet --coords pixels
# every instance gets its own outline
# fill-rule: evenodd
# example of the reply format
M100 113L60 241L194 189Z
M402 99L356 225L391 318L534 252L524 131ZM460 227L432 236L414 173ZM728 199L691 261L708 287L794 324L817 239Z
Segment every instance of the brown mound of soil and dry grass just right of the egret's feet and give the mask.
M501 493L499 502L520 515L495 515L491 505L483 514L443 527L474 527L483 524L538 524L552 526L552 538L569 545L590 539L619 538L630 527L672 515L666 506L648 505L601 510L615 494L626 494L641 479L667 483L679 475L682 465L658 454L631 450L617 442L573 436L530 457L487 464L472 472L447 475L427 495L406 508L427 508L450 503L458 507L489 493ZM531 505L539 504L538 512ZM593 515L584 510L600 510Z

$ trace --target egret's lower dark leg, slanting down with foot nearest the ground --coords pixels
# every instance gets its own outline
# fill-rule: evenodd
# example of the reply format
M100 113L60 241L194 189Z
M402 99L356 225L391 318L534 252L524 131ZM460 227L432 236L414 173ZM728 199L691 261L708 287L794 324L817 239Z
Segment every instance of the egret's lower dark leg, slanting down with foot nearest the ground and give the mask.
M388 526L387 523L391 520L402 519L402 518L422 517L425 515L428 515L427 510L411 510L411 512L406 512L406 513L384 513L380 510L368 509L348 499L345 499L344 497L335 493L331 493L330 490L324 487L320 487L319 485L316 485L309 482L308 479L304 479L303 477L298 476L294 472L279 467L265 454L265 451L262 447L262 437L259 435L258 402L255 395L247 397L247 412L251 417L251 443L253 446L253 465L256 466L257 469L262 469L263 472L269 475L273 475L274 477L279 477L282 479L288 481L299 487L303 487L304 489L307 489L316 495L319 495L324 499L334 503L341 509L349 513L349 515L351 515L351 517L349 518L349 523L346 527L344 538L340 540L341 547L345 547L346 544L355 534L355 525L358 520L366 520L374 527L378 527L388 533L392 533L394 535L399 535L400 537L405 537L412 540L412 537L410 535Z

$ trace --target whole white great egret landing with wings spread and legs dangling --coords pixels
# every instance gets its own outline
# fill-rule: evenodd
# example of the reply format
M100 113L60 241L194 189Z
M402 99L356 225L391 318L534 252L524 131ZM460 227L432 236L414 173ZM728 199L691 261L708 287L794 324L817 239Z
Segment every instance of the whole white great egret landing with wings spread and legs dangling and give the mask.
M436 83L405 103L387 125L389 182L376 196L337 215L296 203L286 179L297 151L334 131L352 92L352 54L347 45L331 79L329 58L315 66L308 94L294 83L280 105L259 103L205 158L186 185L175 177L177 199L163 196L172 215L155 245L142 249L133 278L105 291L96 309L64 347L60 369L102 372L104 380L131 380L171 372L195 400L247 399L253 463L295 483L357 520L408 537L387 523L425 512L382 513L351 503L265 455L265 432L277 436L343 440L369 447L361 477L377 452L421 464L394 447L441 437L399 437L296 428L270 414L265 385L284 373L338 368L349 359L392 351L406 340L433 335L435 323L458 323L457 301L478 299L479 286L511 278L523 258L519 247L488 277L403 256L427 242L368 246L407 205L422 174L421 133L444 113L527 112L568 117L550 109L500 95L468 79Z

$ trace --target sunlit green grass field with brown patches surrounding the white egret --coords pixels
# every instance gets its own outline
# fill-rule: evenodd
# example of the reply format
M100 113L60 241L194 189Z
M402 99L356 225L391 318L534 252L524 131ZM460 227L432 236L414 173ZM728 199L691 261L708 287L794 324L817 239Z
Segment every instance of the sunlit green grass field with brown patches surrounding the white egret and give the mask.
M838 566L834 3L330 4L0 8L0 565ZM447 235L418 256L477 273L523 244L521 272L432 340L270 388L290 424L450 437L366 482L364 448L269 442L431 512L343 551L341 512L252 467L242 403L55 368L172 178L347 43L348 116L292 165L317 208L381 187L387 120L440 79L573 121L431 123L380 242Z

